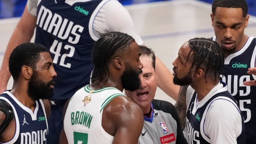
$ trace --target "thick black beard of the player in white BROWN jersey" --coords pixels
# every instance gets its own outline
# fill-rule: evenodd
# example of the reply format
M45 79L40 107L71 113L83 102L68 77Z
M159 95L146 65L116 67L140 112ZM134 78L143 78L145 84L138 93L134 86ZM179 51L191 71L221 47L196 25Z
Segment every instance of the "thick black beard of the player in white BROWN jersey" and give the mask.
M121 81L124 89L128 91L135 91L140 88L140 78L139 74L142 73L142 70L136 72L130 66L128 66L123 75L121 76Z

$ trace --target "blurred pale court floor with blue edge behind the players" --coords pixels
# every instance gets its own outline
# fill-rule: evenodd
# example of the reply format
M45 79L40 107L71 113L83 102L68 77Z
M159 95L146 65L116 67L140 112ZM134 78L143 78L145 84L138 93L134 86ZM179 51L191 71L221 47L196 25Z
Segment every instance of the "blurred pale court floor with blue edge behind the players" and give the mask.
M256 36L256 0L246 0L249 24L245 34ZM0 66L14 28L27 0L0 0ZM119 0L129 11L144 44L155 51L172 72L172 62L183 43L195 37L214 36L211 25L212 0ZM31 40L33 42L33 39ZM7 88L12 88L10 79ZM157 89L155 99L175 101Z

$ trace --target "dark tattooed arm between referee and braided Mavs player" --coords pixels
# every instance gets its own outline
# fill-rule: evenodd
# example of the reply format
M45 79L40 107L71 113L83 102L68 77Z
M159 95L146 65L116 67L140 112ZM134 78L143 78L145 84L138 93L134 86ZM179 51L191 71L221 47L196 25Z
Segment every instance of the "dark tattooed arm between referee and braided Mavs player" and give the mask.
M186 110L187 110L186 92L187 92L188 86L189 85L180 87L178 99L174 105L176 107L176 110L180 118L180 124L181 124L182 130L185 128L185 124L186 124Z

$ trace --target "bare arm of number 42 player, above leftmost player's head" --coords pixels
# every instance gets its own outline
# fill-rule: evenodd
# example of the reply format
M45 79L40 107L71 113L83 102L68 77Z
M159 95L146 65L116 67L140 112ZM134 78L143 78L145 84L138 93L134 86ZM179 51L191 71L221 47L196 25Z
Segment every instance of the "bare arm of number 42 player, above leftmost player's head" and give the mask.
M24 13L10 38L4 54L3 63L0 69L0 93L6 90L7 83L11 76L8 61L12 50L21 43L30 42L34 34L35 26L36 17L31 16L27 11L27 7L25 7Z

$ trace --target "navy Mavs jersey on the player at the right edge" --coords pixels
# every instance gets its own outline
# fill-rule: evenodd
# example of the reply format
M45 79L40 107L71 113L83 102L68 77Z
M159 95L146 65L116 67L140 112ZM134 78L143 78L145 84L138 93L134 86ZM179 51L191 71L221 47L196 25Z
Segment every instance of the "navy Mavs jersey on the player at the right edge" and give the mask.
M216 37L213 38L216 41ZM256 87L245 86L243 82L255 80L247 74L255 67L256 39L249 37L244 47L225 58L221 79L228 85L228 91L235 98L244 116L246 144L256 144Z

